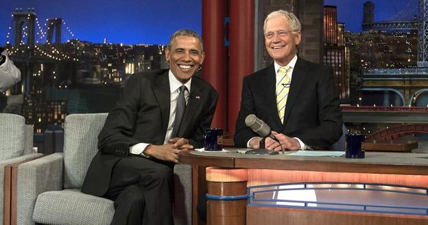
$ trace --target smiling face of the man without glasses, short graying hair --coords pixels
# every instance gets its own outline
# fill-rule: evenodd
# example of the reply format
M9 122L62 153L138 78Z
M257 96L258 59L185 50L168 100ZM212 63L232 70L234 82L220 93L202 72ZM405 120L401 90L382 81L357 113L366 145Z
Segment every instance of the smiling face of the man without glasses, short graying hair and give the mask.
M204 62L205 54L202 52L198 38L190 36L176 36L171 47L165 50L165 57L169 61L169 69L181 82L187 83Z

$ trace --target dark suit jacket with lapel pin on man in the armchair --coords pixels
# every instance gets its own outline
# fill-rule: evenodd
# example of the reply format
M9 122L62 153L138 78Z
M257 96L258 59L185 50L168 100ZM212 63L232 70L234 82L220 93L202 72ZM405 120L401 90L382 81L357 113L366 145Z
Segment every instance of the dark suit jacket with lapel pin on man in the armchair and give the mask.
M217 96L209 83L200 77L192 78L178 137L189 139L195 148L202 146L203 132L213 120ZM98 136L99 152L88 169L82 192L106 194L112 168L119 159L130 155L130 146L141 142L163 144L170 104L168 70L132 75Z

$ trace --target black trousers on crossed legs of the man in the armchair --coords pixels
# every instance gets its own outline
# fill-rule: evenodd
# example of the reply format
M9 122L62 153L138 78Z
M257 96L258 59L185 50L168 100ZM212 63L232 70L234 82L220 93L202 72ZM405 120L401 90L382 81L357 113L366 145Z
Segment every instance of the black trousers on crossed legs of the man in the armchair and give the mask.
M130 156L112 170L105 198L115 201L112 225L174 224L174 164Z

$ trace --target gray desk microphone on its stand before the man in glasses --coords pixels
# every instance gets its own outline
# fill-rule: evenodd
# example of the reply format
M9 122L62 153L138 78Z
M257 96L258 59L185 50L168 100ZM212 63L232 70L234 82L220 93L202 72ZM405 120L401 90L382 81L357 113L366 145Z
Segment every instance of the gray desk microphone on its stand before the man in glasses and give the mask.
M256 115L250 114L246 117L245 123L247 127L250 127L252 131L263 137L263 142L265 141L265 137L270 137L275 142L279 143L279 146L281 146L281 149L283 150L283 146L281 145L281 142L275 137L275 135L272 133L272 130L270 129L269 125L263 122L263 120L257 118ZM283 150L284 151L284 150ZM256 149L256 150L249 150L246 152L246 154L256 154L256 155L276 155L278 152L273 150L266 150L266 149Z

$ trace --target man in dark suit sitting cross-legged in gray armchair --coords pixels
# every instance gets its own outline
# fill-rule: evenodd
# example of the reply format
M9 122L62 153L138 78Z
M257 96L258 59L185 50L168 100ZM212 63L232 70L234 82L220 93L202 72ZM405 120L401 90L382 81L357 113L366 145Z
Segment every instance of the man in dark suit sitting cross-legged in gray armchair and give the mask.
M111 224L174 224L178 153L200 148L213 119L217 92L193 77L204 61L200 36L176 31L165 56L169 70L130 77L108 114L86 174L82 192L115 201Z

